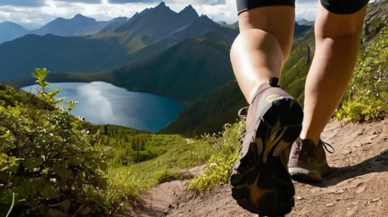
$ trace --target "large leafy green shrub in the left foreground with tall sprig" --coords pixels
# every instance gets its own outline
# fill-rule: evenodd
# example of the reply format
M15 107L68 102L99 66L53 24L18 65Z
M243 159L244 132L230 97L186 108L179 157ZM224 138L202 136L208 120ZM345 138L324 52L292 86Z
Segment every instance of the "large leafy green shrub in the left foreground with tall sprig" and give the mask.
M46 69L32 74L38 96L55 106L60 89L48 92ZM91 134L68 108L52 111L27 105L0 106L0 213L7 212L16 195L12 216L21 212L103 214L111 204L101 197L107 188L104 156L98 132ZM5 210L4 210L5 209Z

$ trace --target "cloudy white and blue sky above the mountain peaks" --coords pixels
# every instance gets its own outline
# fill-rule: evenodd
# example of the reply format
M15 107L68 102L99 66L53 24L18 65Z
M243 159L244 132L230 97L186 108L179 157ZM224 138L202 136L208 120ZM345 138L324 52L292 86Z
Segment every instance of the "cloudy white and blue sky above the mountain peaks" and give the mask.
M236 0L164 0L179 12L192 4L199 15L215 21L233 23L237 20ZM0 0L0 22L12 21L34 28L57 18L82 14L97 20L118 16L131 17L136 12L155 7L160 0ZM318 0L296 0L296 16L315 20Z

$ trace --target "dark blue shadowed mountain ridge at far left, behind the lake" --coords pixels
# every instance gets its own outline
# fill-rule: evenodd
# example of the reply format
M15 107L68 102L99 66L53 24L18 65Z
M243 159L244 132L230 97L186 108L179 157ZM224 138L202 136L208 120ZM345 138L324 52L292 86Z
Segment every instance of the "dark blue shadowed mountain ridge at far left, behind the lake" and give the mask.
M44 67L58 72L100 71L104 69L101 66L113 65L117 56L125 57L126 54L127 50L119 46L117 38L97 40L27 34L0 45L0 70L4 72L0 80L23 78L31 70Z

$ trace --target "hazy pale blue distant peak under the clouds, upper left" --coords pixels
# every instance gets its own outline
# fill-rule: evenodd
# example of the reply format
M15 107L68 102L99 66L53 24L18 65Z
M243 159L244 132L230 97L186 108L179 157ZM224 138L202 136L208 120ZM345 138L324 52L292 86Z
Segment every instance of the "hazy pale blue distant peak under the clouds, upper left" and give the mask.
M43 27L31 31L31 33L37 35L54 34L58 36L92 35L101 31L106 24L107 21L97 21L94 18L77 14L70 19L58 17Z

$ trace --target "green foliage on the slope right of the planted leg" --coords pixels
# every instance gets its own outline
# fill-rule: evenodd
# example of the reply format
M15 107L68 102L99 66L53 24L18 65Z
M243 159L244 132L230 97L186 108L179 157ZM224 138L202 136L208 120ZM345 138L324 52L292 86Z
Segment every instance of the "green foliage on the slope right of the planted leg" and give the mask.
M336 118L345 122L376 121L388 114L388 25L375 43L360 53L353 78Z

